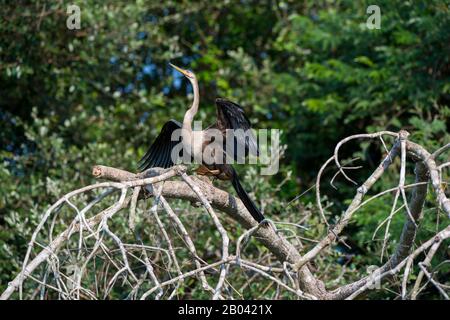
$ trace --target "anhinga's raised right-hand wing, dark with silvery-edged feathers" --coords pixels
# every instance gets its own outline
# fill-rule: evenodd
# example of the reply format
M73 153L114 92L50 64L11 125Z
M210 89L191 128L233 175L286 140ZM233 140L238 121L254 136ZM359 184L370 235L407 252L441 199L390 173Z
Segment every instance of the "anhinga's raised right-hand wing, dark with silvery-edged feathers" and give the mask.
M238 147L243 147L245 156L249 152L255 156L259 156L258 143L255 135L251 131L251 123L245 115L244 109L234 102L221 98L216 99L216 106L217 128L223 132L227 129L234 130L234 151ZM227 153L229 152L227 151ZM236 153L234 154L236 160Z

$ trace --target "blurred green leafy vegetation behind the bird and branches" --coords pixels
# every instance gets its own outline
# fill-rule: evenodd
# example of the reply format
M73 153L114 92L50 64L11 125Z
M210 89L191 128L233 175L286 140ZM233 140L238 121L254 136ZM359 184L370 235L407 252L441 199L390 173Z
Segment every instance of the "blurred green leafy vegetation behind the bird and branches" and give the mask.
M326 231L314 191L287 203L313 184L340 139L402 128L430 151L449 142L446 0L0 4L0 291L20 270L31 232L51 203L92 183L94 164L135 170L162 124L182 117L191 88L168 62L198 75L199 119L214 116L214 99L221 96L241 104L256 128L283 130L287 149L280 172L264 177L245 168L242 175L266 215L306 225L305 238ZM69 4L81 8L80 30L66 27ZM366 27L370 4L381 8L379 30ZM358 182L384 154L380 143L364 141L342 152L342 158L359 157L353 163L364 166L353 173ZM413 181L412 167L408 175ZM373 192L397 179L392 170ZM322 191L331 221L354 192L343 179L336 186L337 191L324 184ZM329 249L329 256L316 261L328 287L381 263L384 231L373 241L372 233L391 202L392 195L381 197L356 215L345 233L351 249ZM217 248L208 239L216 235L208 233L208 219L189 204L179 208L191 213L185 219L195 221L204 254L214 256ZM439 228L439 212L432 205L428 211L418 242ZM393 222L393 245L402 221L399 214ZM229 228L242 232L233 222ZM306 248L311 244L306 241ZM449 252L440 258L448 259ZM444 270L444 277L449 274ZM243 296L255 297L262 285L252 284ZM372 295L396 297L389 290ZM432 288L424 295L436 296ZM192 290L181 297L201 296Z

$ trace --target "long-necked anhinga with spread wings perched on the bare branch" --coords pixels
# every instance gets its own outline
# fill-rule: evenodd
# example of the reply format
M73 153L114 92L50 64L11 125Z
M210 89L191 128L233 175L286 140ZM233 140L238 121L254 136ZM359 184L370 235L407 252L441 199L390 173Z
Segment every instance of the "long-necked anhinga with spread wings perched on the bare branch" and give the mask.
M230 145L230 141L228 141L228 143L226 141L227 129L241 129L241 132L251 132L249 131L251 129L251 124L244 114L244 110L242 109L242 107L231 101L217 98L216 123L205 130L193 131L192 121L194 119L194 116L197 114L199 107L199 88L197 78L195 77L195 74L189 70L181 69L177 66L174 66L173 64L170 65L181 72L190 81L194 92L194 100L192 102L192 106L189 108L189 110L186 111L184 115L183 123L171 119L164 124L160 134L150 146L144 157L141 159L140 170L144 171L153 167L172 167L175 164L174 160L175 162L177 161L177 159L172 158L172 150L176 145L182 142L183 151L187 150L187 152L190 153L189 156L191 159L202 159L201 166L197 169L197 174L214 176L220 180L231 180L231 183L236 190L239 198L242 200L253 218L258 221L258 223L263 221L264 216L256 207L254 202L249 198L247 192L245 192L245 190L243 189L241 183L239 182L236 171L230 164L226 163L226 146ZM177 129L181 129L181 135L178 139L174 139L172 137L172 133ZM214 141L214 138L212 137L214 136L214 134L217 134L217 130L220 131L220 134L222 134L223 137L223 143L220 144L223 147L218 152L220 153L220 157L222 157L222 161L217 161L215 163L206 163L205 161L203 161L202 155L205 148ZM215 131L214 134L212 134L213 131ZM231 145L234 149L236 149L236 147L242 147L245 151L245 156L247 156L249 152L256 156L259 155L258 145L253 134L248 134L244 137L236 135L233 137ZM232 153L232 157L236 160L236 150L233 151L234 152ZM228 152L228 156L229 155L230 152ZM179 156L181 158L181 155Z

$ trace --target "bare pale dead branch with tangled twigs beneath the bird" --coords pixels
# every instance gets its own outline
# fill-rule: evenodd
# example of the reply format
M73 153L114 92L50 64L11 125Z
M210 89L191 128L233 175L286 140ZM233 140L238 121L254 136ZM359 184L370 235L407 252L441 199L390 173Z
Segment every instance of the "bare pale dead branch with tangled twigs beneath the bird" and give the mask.
M383 140L386 135L396 139L390 150ZM404 299L418 297L423 290L421 285L424 278L428 279L425 285L430 283L443 298L448 298L448 285L439 283L434 277L431 259L445 240L450 238L450 226L437 232L416 249L413 247L424 215L428 182L431 182L435 194L436 207L450 217L450 201L442 180L442 170L447 167L447 163L437 163L438 156L442 156L450 148L447 144L430 153L424 147L409 141L408 136L406 131L383 131L351 136L338 143L334 155L322 166L316 180L317 207L329 230L322 239L314 239L317 243L307 251L302 244L302 237L294 236L296 246L280 230L276 230L276 222L258 226L239 199L196 176L189 176L184 166L155 168L134 174L96 165L92 175L106 182L72 191L49 207L33 232L21 272L8 284L0 298L9 299L15 292L18 292L19 298L34 297L35 294L30 295L30 292L36 292L38 288L41 297L48 295L60 299L96 299L101 298L100 292L103 297L107 297L120 283L121 287L129 288L129 298L172 299L181 287L187 285L186 280L193 278L199 281L205 292L211 294L211 298L229 299L233 297L235 289L227 279L235 268L240 268L242 272L252 272L253 277L265 279L266 288L275 284L279 290L286 290L298 299L354 299L369 290L381 289L382 282L400 275L401 270L404 270L401 292ZM352 202L340 220L332 226L327 221L327 213L321 203L322 176L325 169L334 163L338 169L335 177L340 174L346 180L356 183L346 171L359 167L342 165L339 150L345 143L361 138L381 139L387 154L375 171L357 188ZM397 187L367 198L369 190L391 170L397 158L400 164ZM406 165L409 160L415 163L415 183L411 185L406 184ZM409 199L407 189L412 189ZM83 209L78 209L80 196L98 191L103 192L85 204ZM386 219L380 221L376 231L385 228L381 256L383 260L387 245L391 242L391 220L398 212L404 212L403 231L392 255L383 266L376 268L368 276L334 290L327 289L315 270L310 268L310 263L325 255L326 248L342 241L340 235L360 208L389 192L395 192L394 201ZM113 205L97 209L110 198L113 198ZM217 239L212 241L221 243L218 260L206 261L202 257L196 246L196 235L190 234L191 226L186 225L182 213L176 213L167 199L189 201L194 206L200 203L204 207L212 222L211 228L217 230L218 234ZM142 210L139 203L145 204L148 201L153 201L151 209ZM399 208L398 201L403 202ZM56 215L63 207L71 209L75 215L69 226L53 238ZM127 241L135 243L127 243L124 239L126 231L117 229L118 219L115 217L126 208L129 208L126 230L134 234L134 240L127 238ZM91 214L96 210L96 214ZM223 222L225 217L221 217L218 212L248 230L238 237L234 245L235 253L230 252L229 226ZM89 214L90 217L87 217ZM154 223L148 224L148 219ZM50 227L48 238L44 236L47 225ZM141 236L142 228L150 230L147 235L150 239ZM152 233L151 230L156 232ZM275 257L276 262L271 259L262 262L246 259L245 247L252 239L261 243L270 252L265 256ZM146 244L148 241L152 243ZM419 274L408 294L408 279L414 272L414 261L421 254L425 255L425 259L416 264ZM345 277L345 271L343 269L339 279ZM86 280L88 277L94 277L94 285L92 281ZM210 285L212 279L215 279L215 287ZM334 283L338 283L339 279Z

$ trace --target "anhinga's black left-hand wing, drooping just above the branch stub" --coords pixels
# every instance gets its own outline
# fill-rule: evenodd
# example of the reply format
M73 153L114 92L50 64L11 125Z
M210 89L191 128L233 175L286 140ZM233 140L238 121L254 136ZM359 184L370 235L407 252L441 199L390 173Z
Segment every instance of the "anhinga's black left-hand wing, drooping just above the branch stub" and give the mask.
M153 144L139 161L140 171L154 167L170 168L174 165L174 160L176 161L176 159L171 157L172 150L181 142L180 135L175 141L172 141L172 134L177 129L181 129L181 123L176 120L171 119L164 124L158 137L156 137ZM179 154L180 157L182 157L181 152Z

